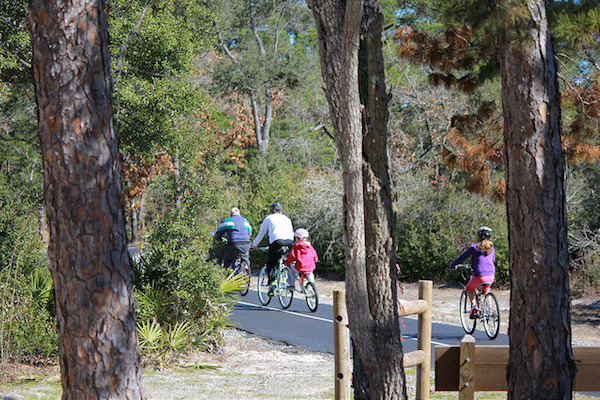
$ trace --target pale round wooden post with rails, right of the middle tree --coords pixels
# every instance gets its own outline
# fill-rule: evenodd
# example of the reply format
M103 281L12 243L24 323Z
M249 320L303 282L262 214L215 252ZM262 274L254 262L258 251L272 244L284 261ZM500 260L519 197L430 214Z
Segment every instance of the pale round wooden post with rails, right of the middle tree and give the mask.
M431 301L433 283L419 281L419 300L425 300L427 309L419 314L417 349L425 352L425 360L417 365L417 400L429 399L429 372L431 370Z

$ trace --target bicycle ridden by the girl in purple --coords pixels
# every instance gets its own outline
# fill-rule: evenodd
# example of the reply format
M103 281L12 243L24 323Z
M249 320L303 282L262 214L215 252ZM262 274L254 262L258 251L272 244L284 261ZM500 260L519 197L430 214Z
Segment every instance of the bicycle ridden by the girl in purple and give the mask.
M472 275L471 266L468 264L459 264L458 268L463 270L460 272L461 277L468 282ZM468 274L466 272L468 270ZM494 340L500 332L500 307L498 306L498 299L494 293L489 292L484 296L485 286L491 285L491 283L484 283L475 290L475 304L479 310L475 315L471 315L471 300L466 290L466 283L462 284L463 291L460 295L459 302L459 314L460 324L467 334L475 332L475 325L479 319L483 323L483 328L486 335Z

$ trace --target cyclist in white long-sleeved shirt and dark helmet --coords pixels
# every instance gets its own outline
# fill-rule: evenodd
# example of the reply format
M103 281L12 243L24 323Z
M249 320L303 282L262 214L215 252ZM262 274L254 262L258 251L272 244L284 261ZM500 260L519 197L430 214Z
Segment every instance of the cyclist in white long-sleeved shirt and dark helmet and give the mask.
M252 249L256 249L266 234L269 236L269 251L267 252L267 272L269 274L269 294L272 293L272 283L275 279L275 268L279 258L283 255L282 247L291 249L294 245L294 228L292 221L283 214L281 204L275 202L270 207L271 214L260 224L258 234L252 242Z

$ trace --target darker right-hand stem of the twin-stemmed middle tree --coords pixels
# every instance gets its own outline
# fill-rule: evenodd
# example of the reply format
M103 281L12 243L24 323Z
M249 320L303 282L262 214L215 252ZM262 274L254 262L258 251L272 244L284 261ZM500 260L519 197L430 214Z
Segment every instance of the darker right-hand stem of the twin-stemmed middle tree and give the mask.
M359 398L379 398L376 394L394 388L394 398L406 398L402 365L402 343L398 324L395 218L392 211L392 185L389 171L387 124L390 96L385 87L385 71L381 35L383 15L377 1L366 0L363 35L359 58L360 93L363 104L363 192L365 202L365 246L369 307L375 321L372 346L375 354L365 363L375 370L368 371L369 393ZM362 376L355 368L355 387ZM379 386L379 387L377 387ZM391 395L392 393L390 393ZM355 397L357 393L355 391Z

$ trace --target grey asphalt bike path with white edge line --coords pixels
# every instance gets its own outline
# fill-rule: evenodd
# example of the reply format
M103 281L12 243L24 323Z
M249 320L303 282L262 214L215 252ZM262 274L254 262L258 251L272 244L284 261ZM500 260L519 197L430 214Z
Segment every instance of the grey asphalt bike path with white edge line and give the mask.
M435 312L435 310L433 311ZM457 313L458 314L458 313ZM456 316L458 319L458 315ZM506 323L502 315L501 324ZM308 350L324 351L333 354L333 307L319 304L316 313L308 310L302 295L295 293L292 305L283 310L277 297L267 306L262 306L256 291L250 290L240 296L233 311L232 320L236 327L271 339L281 340ZM403 317L400 331L404 352L417 349L417 319ZM483 328L483 327L481 327ZM460 345L465 331L460 326L433 323L431 326L432 358L434 346ZM500 334L490 340L483 330L475 330L473 336L480 345L508 345L508 335ZM432 360L433 362L433 360Z

